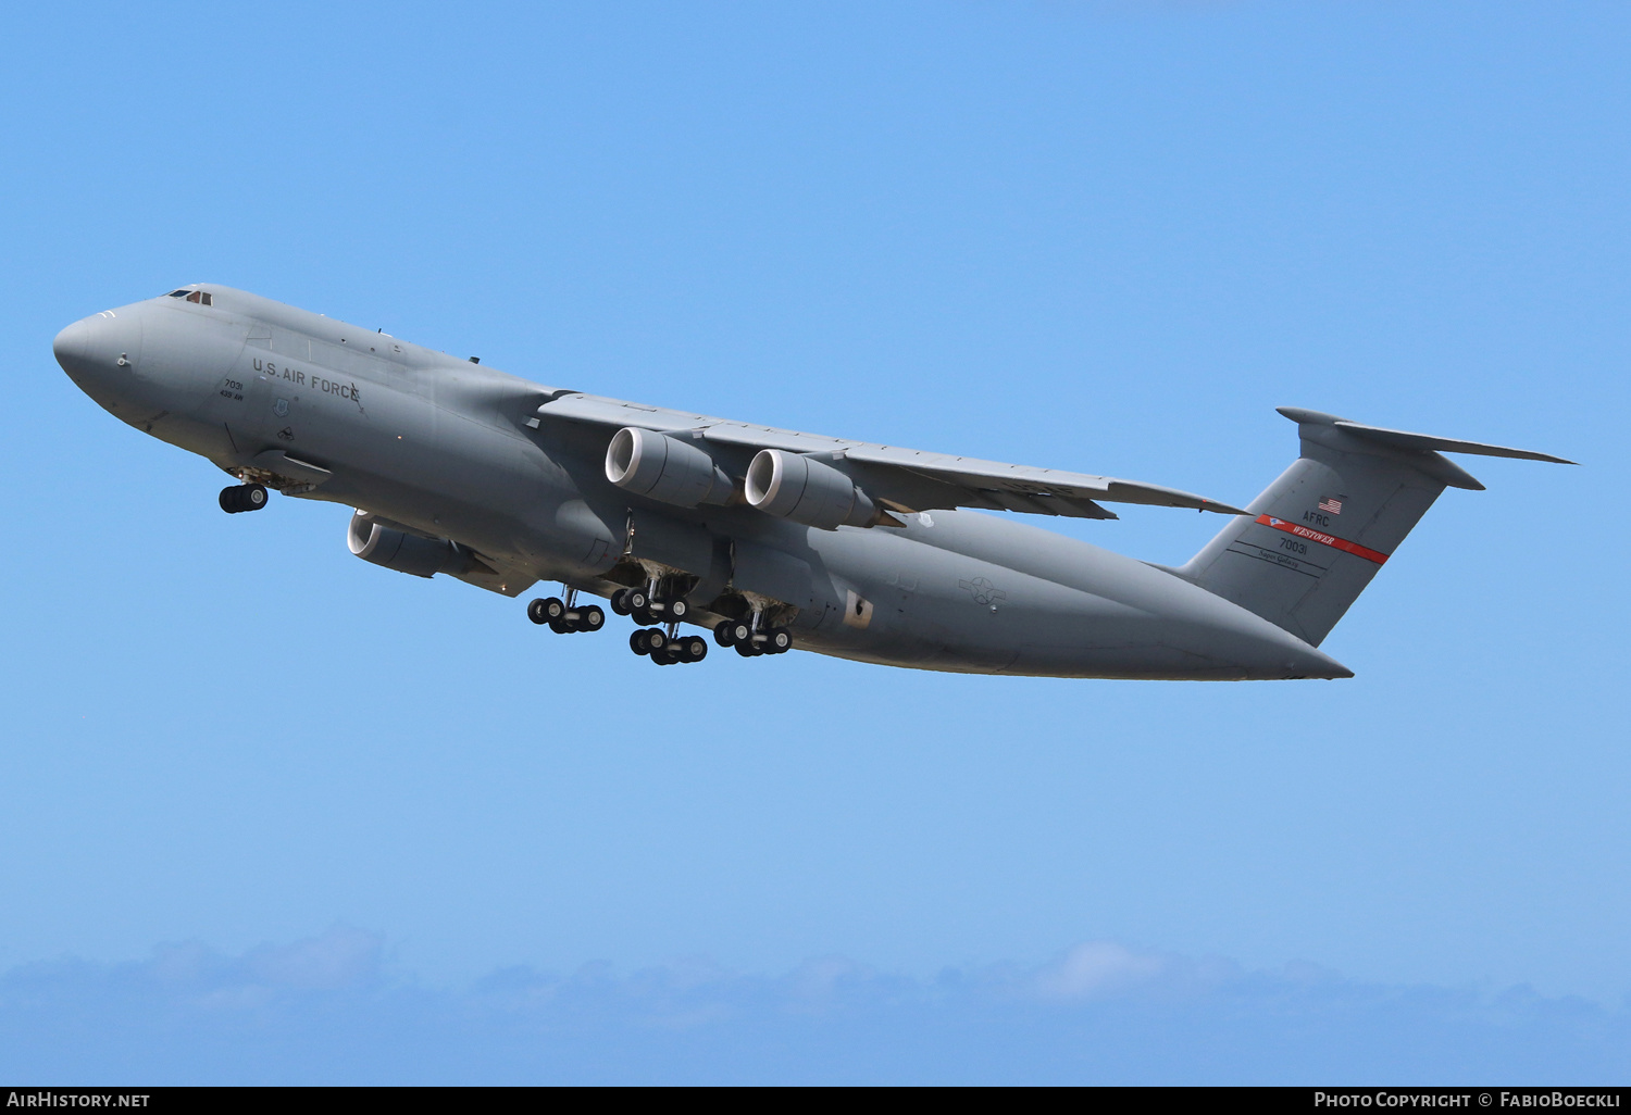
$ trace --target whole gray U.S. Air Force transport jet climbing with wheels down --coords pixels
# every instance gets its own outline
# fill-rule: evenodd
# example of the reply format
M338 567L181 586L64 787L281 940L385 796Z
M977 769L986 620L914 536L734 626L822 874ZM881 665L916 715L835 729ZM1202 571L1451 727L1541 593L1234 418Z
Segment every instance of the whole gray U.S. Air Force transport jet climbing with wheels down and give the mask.
M267 492L347 504L351 553L517 597L559 634L698 662L788 649L1070 678L1347 678L1318 647L1445 486L1440 455L1558 456L1280 408L1302 456L1248 507L1171 487L869 445L553 388L241 290L197 284L57 334L116 417ZM961 509L1228 515L1153 566Z

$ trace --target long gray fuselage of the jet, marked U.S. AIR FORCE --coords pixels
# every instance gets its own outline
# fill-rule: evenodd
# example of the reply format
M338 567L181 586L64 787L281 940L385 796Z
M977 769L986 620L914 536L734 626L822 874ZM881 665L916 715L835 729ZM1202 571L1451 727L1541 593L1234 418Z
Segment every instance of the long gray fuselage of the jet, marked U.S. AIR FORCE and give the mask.
M251 293L197 290L210 305L158 297L85 318L57 336L57 360L121 421L228 473L457 543L480 558L471 584L610 595L672 574L687 579L695 621L749 602L776 610L798 649L928 670L1350 676L1171 571L1010 517L933 510L900 515L904 527L819 530L740 500L634 496L603 468L615 425L538 419L558 388ZM631 424L675 416L597 403Z

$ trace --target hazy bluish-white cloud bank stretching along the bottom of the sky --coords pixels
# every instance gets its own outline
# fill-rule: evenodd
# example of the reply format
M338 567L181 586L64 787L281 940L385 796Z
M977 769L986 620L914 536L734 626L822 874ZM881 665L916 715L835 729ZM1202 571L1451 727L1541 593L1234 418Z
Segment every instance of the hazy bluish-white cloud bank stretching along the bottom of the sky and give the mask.
M1075 945L933 980L819 957L426 988L378 934L0 973L0 1076L152 1082L1611 1082L1631 1011Z

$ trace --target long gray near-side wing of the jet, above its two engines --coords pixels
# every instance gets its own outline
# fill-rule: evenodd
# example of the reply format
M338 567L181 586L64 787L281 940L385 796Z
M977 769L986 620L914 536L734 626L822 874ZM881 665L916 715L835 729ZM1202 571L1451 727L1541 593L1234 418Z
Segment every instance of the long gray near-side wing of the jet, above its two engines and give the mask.
M1114 512L1101 507L1109 502L1246 513L1240 507L1160 484L749 425L594 394L559 393L538 408L537 421L605 427L608 440L625 425L687 432L692 439L700 437L716 447L721 465L739 458L737 476L758 450L804 453L846 473L876 502L897 512L979 507L1070 518L1116 518Z

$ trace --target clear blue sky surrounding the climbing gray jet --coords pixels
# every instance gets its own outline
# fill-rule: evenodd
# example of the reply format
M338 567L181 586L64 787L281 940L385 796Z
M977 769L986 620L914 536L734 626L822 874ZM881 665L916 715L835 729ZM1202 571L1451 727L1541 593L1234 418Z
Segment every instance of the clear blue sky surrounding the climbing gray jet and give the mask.
M1536 1079L1597 1071L1556 1004L1598 1012L1590 1064L1623 1078L1628 33L1608 3L8 13L0 1029L108 996L140 1030L168 1001L121 973L163 950L336 932L449 1017L514 970L705 965L731 998L845 957L930 996L1099 942L1425 989L1398 1011L1427 1003L1445 1078L1497 1045L1442 1004L1528 988ZM1463 461L1489 491L1447 492L1324 644L1350 681L651 670L621 629L556 639L352 559L344 509L223 517L212 466L55 368L62 324L192 280L551 385L1235 502L1295 453L1280 404L1584 466ZM1215 527L1067 530L1181 561ZM948 1007L970 1045L1003 1017L982 994ZM281 1003L290 1035L329 1009ZM1178 1003L1205 1048L1215 999ZM824 1048L935 1009L863 1003L793 1061L724 1029L698 1073L837 1079L860 1061ZM1432 1076L1344 1061L1342 1007L1298 1009L1328 1045L1241 1009L1228 1071L1166 1076ZM1037 1011L1039 1048L1107 1071ZM615 1076L648 1030L599 1033ZM21 1068L206 1063L121 1042ZM956 1047L900 1076L964 1073Z

